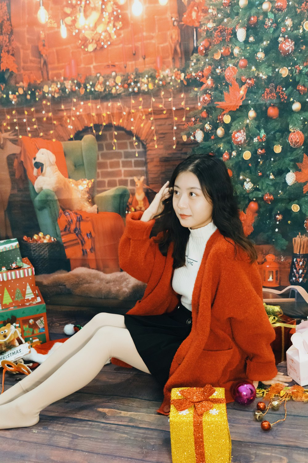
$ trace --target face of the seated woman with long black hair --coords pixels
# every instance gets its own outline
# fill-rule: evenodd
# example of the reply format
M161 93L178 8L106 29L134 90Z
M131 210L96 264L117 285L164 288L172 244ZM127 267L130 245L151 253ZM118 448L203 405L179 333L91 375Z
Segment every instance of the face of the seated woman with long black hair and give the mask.
M212 203L205 198L198 177L192 172L176 177L172 204L183 227L200 228L212 220Z

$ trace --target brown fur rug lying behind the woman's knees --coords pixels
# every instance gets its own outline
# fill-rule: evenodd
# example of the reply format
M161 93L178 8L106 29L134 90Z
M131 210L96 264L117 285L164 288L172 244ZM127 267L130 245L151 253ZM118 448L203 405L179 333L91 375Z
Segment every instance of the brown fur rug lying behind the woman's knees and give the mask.
M85 267L71 272L58 270L49 275L36 275L35 279L43 296L78 294L103 299L138 300L146 286L126 272L106 274Z

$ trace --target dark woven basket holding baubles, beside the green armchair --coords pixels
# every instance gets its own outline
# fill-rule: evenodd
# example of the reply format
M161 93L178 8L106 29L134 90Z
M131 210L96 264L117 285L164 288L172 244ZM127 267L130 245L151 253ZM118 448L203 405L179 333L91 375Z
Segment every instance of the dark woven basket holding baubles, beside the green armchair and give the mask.
M52 243L28 243L20 240L22 257L28 257L35 269L36 275L53 273L60 269L70 270L69 260L66 259L63 244L58 241Z

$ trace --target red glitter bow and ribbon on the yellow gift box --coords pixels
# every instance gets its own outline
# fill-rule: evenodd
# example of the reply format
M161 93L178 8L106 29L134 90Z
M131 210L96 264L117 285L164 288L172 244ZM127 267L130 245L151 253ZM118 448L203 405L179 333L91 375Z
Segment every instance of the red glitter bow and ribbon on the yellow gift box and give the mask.
M184 399L172 399L178 412L193 407L193 438L195 445L196 463L205 463L203 420L202 415L213 408L213 404L225 403L225 399L211 398L216 389L211 384L205 384L204 388L182 389L179 393Z

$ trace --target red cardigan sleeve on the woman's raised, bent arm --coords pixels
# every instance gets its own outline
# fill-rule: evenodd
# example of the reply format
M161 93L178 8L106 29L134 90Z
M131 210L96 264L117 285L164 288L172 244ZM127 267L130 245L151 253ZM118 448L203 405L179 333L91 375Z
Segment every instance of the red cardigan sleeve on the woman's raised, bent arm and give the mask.
M141 221L142 212L127 214L126 226L119 244L121 269L137 280L148 283L158 244L150 233L155 220Z

